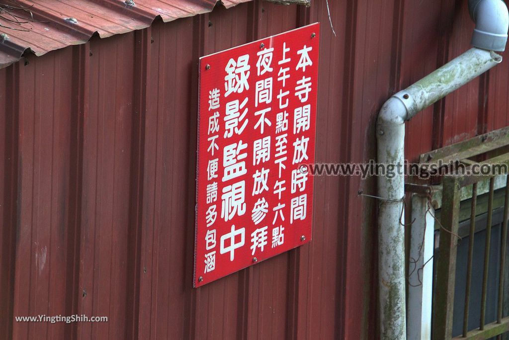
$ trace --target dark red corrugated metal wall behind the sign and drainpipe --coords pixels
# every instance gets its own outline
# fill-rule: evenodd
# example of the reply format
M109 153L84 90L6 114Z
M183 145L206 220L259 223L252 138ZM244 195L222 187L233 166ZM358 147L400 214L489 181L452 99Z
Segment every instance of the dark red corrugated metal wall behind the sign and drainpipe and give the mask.
M322 22L317 161L375 158L378 109L469 48L466 1L255 1L0 70L0 334L373 338L373 179L315 182L309 245L192 289L197 61ZM409 159L507 125L509 61L422 112ZM21 315L108 323L16 323Z

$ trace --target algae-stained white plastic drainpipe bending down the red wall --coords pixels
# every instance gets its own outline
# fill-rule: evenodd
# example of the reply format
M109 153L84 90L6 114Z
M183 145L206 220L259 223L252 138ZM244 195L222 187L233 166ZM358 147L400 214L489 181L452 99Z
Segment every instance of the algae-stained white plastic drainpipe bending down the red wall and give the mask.
M502 0L470 0L469 9L476 22L475 47L382 106L376 130L379 163L403 164L405 121L502 61L493 51L505 49L507 7ZM403 174L378 177L378 196L383 197L378 210L380 334L391 340L406 338L404 194ZM409 326L414 322L420 320L409 320Z

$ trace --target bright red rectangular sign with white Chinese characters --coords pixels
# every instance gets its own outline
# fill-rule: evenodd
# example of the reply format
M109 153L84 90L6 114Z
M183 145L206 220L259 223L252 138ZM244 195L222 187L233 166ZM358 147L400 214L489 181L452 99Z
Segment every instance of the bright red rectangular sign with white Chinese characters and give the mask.
M319 31L200 59L194 287L311 240Z

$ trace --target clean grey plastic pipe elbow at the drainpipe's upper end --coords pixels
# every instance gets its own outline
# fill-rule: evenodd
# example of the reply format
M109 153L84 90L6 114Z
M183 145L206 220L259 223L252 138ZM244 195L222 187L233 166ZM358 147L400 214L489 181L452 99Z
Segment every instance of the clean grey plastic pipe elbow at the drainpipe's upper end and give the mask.
M472 45L491 51L504 51L509 29L509 13L502 0L469 0L475 22Z

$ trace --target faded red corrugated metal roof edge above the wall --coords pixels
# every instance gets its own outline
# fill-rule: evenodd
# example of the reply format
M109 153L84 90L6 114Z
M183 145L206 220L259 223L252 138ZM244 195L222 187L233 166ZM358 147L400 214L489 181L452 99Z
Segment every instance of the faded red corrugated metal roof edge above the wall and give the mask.
M167 22L211 12L217 1L3 1L0 3L0 67L18 61L28 49L36 55L42 55L54 49L87 42L95 34L105 38L145 29L157 17ZM221 3L230 8L247 1L250 0L221 0Z

